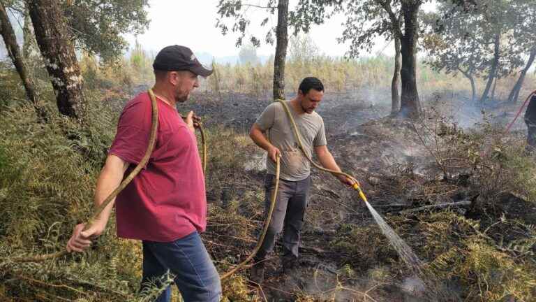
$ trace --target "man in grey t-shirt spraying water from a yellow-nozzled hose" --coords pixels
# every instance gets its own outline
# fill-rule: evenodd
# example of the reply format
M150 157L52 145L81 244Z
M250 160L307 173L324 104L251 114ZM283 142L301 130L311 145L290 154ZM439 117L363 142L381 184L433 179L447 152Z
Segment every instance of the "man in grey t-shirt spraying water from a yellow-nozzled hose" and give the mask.
M285 101L294 118L304 150L311 157L313 151L318 161L325 168L341 171L335 159L327 149L324 121L315 113L324 96L324 85L318 78L304 78L298 88L295 99ZM267 136L265 136L265 134ZM264 259L274 249L276 236L283 228L283 269L293 268L297 264L299 233L304 224L309 189L311 187L311 164L299 149L283 105L271 103L258 117L249 136L260 148L268 152L265 179L265 207L268 213L271 191L274 189L275 161L281 160L281 173L276 207L271 216L265 240L255 255L255 266L251 272L251 280L262 282L264 279ZM337 175L345 185L353 185L352 180Z

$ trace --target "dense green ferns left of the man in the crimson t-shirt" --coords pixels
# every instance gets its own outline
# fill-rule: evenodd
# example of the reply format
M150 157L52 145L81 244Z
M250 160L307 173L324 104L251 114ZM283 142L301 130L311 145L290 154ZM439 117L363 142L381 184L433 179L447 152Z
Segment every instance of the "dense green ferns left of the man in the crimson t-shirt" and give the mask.
M37 123L28 106L10 106L1 113L0 265L9 269L3 267L0 278L18 277L3 283L0 299L14 295L32 301L42 301L43 296L125 301L138 287L140 246L114 240L113 227L94 245L98 252L57 263L4 262L64 249L73 226L87 220L93 210L102 148L111 143L110 116L117 113L95 101L88 105L91 126L74 124L53 106L47 108L46 123Z

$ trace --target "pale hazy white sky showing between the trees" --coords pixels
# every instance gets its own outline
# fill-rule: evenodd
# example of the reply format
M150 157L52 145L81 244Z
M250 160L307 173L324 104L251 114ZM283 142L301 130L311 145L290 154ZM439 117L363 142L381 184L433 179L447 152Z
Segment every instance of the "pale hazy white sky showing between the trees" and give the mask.
M266 1L249 0L244 1L250 4L263 5ZM297 0L290 0L290 10L295 7ZM194 52L209 52L214 57L226 57L238 54L238 49L234 46L237 34L229 33L223 36L216 24L216 5L218 0L151 0L149 1L149 18L151 23L149 29L137 37L137 40L147 50L157 52L166 45L186 45ZM251 15L251 27L249 31L263 38L269 26L275 26L277 16L272 15L266 27L258 26L264 19L265 13L258 8L250 8L248 15ZM338 44L336 38L341 36L341 23L345 20L343 16L330 19L326 24L311 28L310 36L318 45L320 52L330 56L342 56L348 50L347 45ZM229 26L232 26L228 22ZM290 33L289 33L290 34ZM131 45L135 37L128 35L127 39ZM387 42L379 40L373 54L384 50L390 55L392 46L387 48ZM270 55L274 52L274 45L263 43L258 48L258 55Z

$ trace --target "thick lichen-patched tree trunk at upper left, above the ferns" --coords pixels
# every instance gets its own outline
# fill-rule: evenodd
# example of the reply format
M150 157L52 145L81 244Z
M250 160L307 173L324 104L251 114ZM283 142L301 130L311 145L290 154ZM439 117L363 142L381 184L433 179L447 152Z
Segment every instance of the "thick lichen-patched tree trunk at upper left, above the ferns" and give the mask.
M75 48L58 0L28 0L31 22L45 66L56 91L58 110L82 119L84 96Z

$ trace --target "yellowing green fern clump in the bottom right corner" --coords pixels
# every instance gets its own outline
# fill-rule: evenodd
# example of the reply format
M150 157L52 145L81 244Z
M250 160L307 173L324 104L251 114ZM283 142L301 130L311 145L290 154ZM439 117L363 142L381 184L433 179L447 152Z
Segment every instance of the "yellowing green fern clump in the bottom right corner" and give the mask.
M479 233L476 222L454 213L422 218L425 249L433 259L429 273L443 280L459 280L466 301L498 302L507 296L533 301L536 266L530 257L501 250Z

